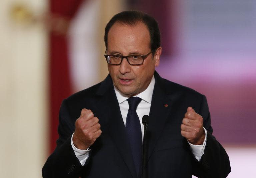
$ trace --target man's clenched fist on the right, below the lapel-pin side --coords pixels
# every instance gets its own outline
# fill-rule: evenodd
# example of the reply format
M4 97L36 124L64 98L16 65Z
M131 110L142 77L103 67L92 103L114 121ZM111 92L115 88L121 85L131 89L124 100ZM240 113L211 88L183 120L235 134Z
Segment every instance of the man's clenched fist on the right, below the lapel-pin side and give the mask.
M185 117L182 120L181 135L193 145L202 145L205 138L203 128L203 118L195 112L192 107L188 107Z

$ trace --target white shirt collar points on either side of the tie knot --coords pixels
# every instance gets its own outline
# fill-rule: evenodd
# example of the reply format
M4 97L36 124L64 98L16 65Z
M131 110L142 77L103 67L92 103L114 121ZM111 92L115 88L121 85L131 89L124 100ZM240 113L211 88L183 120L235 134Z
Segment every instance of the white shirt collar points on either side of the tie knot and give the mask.
M150 81L150 84L148 85L146 90L144 90L143 92L139 93L136 96L140 97L142 100L151 104L154 86L155 86L155 77L153 75L153 77ZM127 100L129 98L129 97L125 96L124 94L122 94L115 86L114 86L114 89L115 89L116 97L117 97L117 100L118 100L119 104L124 102L125 100Z

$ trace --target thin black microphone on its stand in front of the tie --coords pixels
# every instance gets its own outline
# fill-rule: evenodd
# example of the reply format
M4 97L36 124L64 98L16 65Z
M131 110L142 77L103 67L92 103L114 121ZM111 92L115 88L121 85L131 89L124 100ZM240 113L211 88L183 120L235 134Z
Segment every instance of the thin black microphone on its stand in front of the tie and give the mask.
M147 170L146 170L146 161L147 161L147 142L146 142L146 134L147 134L147 127L148 127L148 120L149 116L144 115L142 117L142 124L144 125L144 136L143 136L143 158L142 158L142 177L147 177Z

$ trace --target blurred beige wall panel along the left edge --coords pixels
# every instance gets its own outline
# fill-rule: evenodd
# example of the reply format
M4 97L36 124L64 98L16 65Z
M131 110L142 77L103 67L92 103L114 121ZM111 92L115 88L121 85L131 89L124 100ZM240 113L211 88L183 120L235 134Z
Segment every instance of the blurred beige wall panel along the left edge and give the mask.
M32 12L47 1L19 1ZM42 177L47 154L47 33L40 24L15 24L0 2L0 177Z

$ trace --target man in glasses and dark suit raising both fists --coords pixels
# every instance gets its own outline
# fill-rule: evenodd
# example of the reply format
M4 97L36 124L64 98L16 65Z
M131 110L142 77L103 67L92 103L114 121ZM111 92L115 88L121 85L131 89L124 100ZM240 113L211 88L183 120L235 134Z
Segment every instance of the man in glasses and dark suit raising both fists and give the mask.
M229 158L211 135L205 96L155 71L162 52L157 22L124 11L109 21L104 39L109 75L62 102L57 147L43 177L226 177Z

